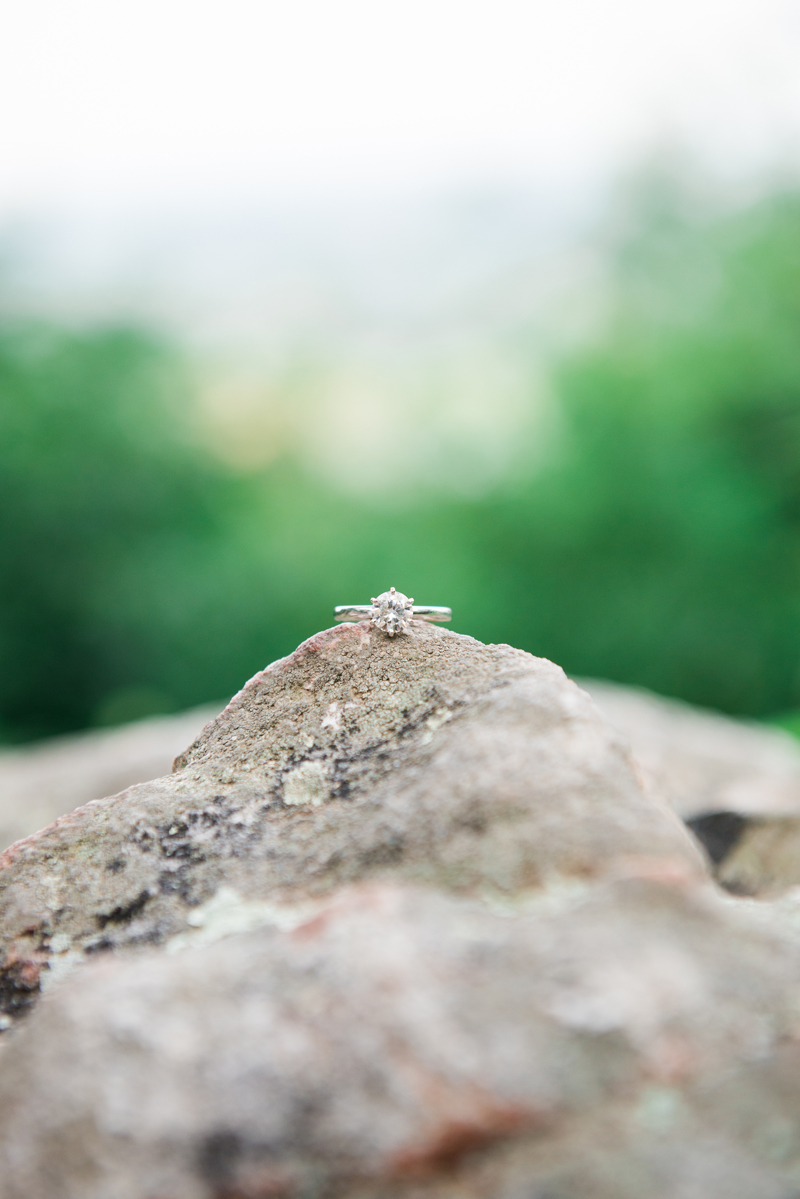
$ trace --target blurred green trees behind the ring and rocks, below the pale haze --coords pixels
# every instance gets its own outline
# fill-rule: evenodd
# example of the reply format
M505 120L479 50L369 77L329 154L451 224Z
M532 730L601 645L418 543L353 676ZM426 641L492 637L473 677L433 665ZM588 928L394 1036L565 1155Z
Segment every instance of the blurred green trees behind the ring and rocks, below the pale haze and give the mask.
M800 194L639 195L525 477L407 506L235 470L179 355L0 327L0 737L225 699L390 584L570 674L800 707Z

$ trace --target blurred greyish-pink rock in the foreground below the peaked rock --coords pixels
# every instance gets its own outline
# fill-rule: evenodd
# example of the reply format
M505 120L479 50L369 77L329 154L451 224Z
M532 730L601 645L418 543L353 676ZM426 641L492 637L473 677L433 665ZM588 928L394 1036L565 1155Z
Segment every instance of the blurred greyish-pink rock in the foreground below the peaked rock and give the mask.
M0 1197L790 1199L798 932L650 873L98 959L4 1052Z

